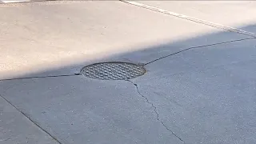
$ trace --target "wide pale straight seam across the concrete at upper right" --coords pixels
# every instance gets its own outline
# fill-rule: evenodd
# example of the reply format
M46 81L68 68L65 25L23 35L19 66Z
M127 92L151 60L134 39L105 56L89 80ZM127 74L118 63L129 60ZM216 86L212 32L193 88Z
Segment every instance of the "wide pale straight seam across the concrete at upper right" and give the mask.
M131 2L131 1L126 1L126 0L119 0L119 1L128 3L130 5L139 6L139 7L148 9L148 10L154 10L154 11L160 12L162 14L169 14L169 15L172 15L174 17L183 18L183 19L186 19L186 20L189 20L189 21L192 21L192 22L201 23L201 24L206 25L206 26L212 26L212 27L222 29L222 30L227 30L227 31L230 31L230 32L234 32L234 33L238 33L238 34L245 34L245 35L248 35L250 37L256 37L256 34L248 32L246 30L241 30L241 29L238 29L238 28L230 27L230 26L223 26L223 25L218 24L218 23L208 22L206 20L190 17L190 16L187 16L187 15L184 15L184 14L178 14L178 13L175 13L175 12L172 12L172 11L169 11L169 10L163 10L161 8L145 5L145 4L142 4L142 3L139 3L139 2Z

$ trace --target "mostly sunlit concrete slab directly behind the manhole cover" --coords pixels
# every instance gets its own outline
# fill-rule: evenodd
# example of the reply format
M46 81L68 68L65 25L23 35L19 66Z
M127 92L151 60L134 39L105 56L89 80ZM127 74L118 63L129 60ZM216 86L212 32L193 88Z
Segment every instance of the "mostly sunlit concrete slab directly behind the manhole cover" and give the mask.
M146 63L189 46L248 38L114 1L18 3L0 13L1 79L74 74L103 58ZM139 50L139 57L126 56Z

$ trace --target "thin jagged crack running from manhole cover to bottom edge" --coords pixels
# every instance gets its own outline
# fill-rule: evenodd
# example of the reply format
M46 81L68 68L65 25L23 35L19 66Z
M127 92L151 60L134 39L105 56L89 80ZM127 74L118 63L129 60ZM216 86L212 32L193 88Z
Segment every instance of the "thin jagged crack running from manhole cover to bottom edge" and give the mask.
M166 124L164 122L162 122L162 120L159 118L159 114L158 114L158 110L157 110L157 107L154 106L154 104L152 102L149 101L148 98L146 98L146 96L144 96L139 90L138 90L138 85L130 80L125 80L127 82L130 82L132 83L135 87L136 87L136 90L138 92L139 95L142 96L142 98L144 98L146 100L146 103L150 104L153 108L154 108L154 113L157 115L157 120L158 122L161 122L162 126L164 126L166 128L166 130L170 131L171 134L174 135L174 137L178 138L180 141L182 141L183 143L185 143L182 138L180 138L177 134L174 133L173 130L170 130L170 128L168 128L168 126L166 126Z

